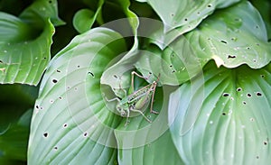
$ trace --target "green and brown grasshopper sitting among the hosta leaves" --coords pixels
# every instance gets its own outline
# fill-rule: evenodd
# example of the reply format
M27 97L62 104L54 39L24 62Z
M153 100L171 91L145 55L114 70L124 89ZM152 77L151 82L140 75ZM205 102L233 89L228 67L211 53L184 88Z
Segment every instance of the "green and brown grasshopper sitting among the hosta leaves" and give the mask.
M117 112L123 117L126 116L125 126L128 124L128 118L131 112L135 112L135 113L139 113L140 115L143 115L146 121L148 121L149 123L152 123L152 121L149 118L147 118L143 113L145 110L144 107L146 105L149 105L150 100L151 100L150 113L159 114L158 112L154 111L153 106L154 106L155 88L157 87L157 82L159 80L160 74L158 75L158 78L156 81L154 81L153 83L149 85L146 85L145 87L141 87L137 90L135 90L135 87L134 87L134 76L137 76L139 78L145 78L139 75L138 73L136 73L135 71L131 72L131 92L129 95L126 94L125 89L120 87L120 89L123 90L125 94L125 96L122 99L118 97L115 97L110 100L107 99L107 102L117 100L117 105L116 105Z

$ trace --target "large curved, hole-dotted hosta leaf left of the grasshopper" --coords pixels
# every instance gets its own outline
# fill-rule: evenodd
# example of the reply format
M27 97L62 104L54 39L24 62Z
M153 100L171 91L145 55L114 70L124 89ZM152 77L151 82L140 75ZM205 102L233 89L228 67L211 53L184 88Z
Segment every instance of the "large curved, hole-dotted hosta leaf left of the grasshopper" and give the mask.
M125 50L117 32L92 29L51 60L33 110L29 164L113 164L120 117L103 100L100 77ZM113 108L114 110L114 108Z

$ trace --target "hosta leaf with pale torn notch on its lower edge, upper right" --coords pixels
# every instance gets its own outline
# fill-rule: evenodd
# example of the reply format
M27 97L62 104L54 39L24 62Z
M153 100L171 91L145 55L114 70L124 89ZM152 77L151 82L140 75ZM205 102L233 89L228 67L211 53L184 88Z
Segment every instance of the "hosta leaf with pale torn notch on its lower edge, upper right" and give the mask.
M179 85L201 74L209 60L215 60L219 67L236 68L246 63L254 69L270 62L271 45L265 24L248 2L211 15L164 50L147 47L135 67L145 77L149 72L160 73L163 84Z

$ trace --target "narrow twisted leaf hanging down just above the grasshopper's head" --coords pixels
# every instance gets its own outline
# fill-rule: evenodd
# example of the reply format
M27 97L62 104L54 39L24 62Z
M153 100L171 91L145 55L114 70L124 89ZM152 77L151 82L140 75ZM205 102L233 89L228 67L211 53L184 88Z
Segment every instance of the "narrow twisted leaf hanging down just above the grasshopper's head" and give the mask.
M119 0L116 1L115 3L122 7L127 18L107 23L105 26L112 27L117 32L122 32L124 37L133 36L134 44L131 50L126 52L125 55L120 54L120 56L116 58L114 62L111 63L111 66L103 73L101 77L101 84L108 85L112 88L119 88L119 86L121 87L128 86L128 83L126 83L127 78L124 74L127 71L130 71L131 69L135 68L134 63L135 60L137 59L136 55L138 49L137 28L139 26L139 19L137 18L136 14L129 9L130 2L128 0L125 1ZM129 23L129 27L126 27L126 22ZM132 28L132 32L130 31L130 28ZM119 82L119 80L121 82Z

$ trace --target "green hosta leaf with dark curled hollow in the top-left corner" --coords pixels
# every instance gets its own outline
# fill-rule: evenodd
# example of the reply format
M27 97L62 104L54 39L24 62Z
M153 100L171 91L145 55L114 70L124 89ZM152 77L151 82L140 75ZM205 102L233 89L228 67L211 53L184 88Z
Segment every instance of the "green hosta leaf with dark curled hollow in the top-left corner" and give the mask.
M0 83L37 85L50 60L56 1L35 1L19 18L0 13Z

